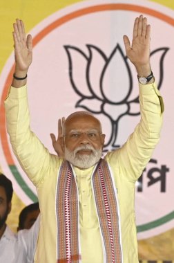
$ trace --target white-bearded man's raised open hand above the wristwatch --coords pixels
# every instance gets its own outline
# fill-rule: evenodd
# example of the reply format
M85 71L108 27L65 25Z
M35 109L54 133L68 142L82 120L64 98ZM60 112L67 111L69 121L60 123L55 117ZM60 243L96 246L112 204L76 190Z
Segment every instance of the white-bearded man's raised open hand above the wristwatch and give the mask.
M128 37L124 35L126 55L135 65L139 76L151 73L150 41L151 26L147 24L146 17L140 15L135 19L132 45Z

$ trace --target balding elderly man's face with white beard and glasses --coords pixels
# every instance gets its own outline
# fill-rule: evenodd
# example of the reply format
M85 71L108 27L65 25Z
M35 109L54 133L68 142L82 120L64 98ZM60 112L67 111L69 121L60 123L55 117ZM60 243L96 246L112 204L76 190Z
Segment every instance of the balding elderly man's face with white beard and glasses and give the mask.
M101 158L104 134L99 121L90 115L73 116L64 129L65 158L79 168L88 168Z

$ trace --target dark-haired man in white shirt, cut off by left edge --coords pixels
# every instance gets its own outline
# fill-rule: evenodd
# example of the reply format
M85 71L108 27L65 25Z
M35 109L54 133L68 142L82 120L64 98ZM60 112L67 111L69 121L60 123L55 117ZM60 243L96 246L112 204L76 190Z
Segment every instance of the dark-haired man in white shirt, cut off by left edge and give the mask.
M0 262L32 263L35 255L40 218L29 230L12 233L6 219L12 206L12 182L0 174Z

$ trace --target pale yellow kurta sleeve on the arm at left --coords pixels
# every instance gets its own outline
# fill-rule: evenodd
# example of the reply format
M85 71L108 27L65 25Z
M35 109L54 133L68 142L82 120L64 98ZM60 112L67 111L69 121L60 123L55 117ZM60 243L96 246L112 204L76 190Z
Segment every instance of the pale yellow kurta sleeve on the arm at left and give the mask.
M38 186L56 165L58 157L50 154L30 129L27 87L10 87L5 100L6 125L13 152L31 181Z

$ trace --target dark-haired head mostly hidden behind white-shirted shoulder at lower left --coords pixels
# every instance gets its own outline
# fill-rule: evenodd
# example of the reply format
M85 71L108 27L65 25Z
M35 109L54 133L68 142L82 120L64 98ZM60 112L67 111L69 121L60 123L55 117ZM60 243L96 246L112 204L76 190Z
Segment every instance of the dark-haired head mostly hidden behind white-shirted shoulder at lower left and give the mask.
M30 227L35 223L39 215L39 203L31 203L21 210L19 215L19 226L17 231L21 229L30 229Z

